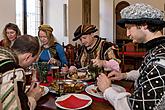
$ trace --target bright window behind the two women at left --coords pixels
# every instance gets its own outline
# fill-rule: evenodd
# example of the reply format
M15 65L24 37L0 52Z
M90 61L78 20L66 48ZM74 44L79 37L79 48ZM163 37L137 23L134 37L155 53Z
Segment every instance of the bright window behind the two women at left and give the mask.
M37 36L42 20L42 0L16 0L16 24L23 34Z

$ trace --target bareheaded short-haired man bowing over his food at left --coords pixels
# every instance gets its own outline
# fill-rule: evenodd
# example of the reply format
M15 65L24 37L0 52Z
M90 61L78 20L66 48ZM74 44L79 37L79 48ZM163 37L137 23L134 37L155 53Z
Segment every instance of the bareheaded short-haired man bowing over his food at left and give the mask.
M43 91L32 84L25 93L25 71L38 57L39 42L30 35L19 36L11 47L0 48L1 110L34 110Z

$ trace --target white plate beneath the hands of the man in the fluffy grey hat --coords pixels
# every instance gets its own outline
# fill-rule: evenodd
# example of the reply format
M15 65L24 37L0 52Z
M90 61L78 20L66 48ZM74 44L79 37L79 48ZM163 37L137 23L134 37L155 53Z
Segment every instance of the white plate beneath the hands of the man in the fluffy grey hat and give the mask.
M115 89L117 92L125 92L125 88L123 88L122 86L119 86L119 85L115 85L115 84L112 84L112 88ZM92 84L92 85L89 85L85 88L85 91L92 95L92 96L95 96L97 98L103 98L103 94L102 92L99 92L97 90L97 86Z

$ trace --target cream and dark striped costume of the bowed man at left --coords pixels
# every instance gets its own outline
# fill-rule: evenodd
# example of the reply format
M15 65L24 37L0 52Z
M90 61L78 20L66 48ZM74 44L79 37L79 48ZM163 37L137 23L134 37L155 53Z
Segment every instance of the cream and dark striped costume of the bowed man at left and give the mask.
M0 48L0 100L3 110L33 110L36 101L25 94L25 71L12 51Z

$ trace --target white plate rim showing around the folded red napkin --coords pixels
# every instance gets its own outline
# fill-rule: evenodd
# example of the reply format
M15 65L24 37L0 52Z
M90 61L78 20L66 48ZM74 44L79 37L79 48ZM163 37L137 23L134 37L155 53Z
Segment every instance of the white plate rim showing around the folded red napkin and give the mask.
M81 99L89 100L89 102L86 105L82 106L82 107L77 107L77 108L74 108L74 109L73 108L66 108L66 107L61 106L60 104L57 103L59 101L66 101L66 99L68 99L71 95L74 95L75 97L79 98L80 100ZM78 102L73 102L73 103L76 104ZM56 101L55 101L55 104L56 104L57 107L59 107L61 109L67 109L67 110L79 110L79 109L83 109L83 108L86 108L89 105L91 105L91 103L92 103L92 99L89 96L85 95L85 94L67 94L67 95L62 95L61 97L58 97L56 99Z

